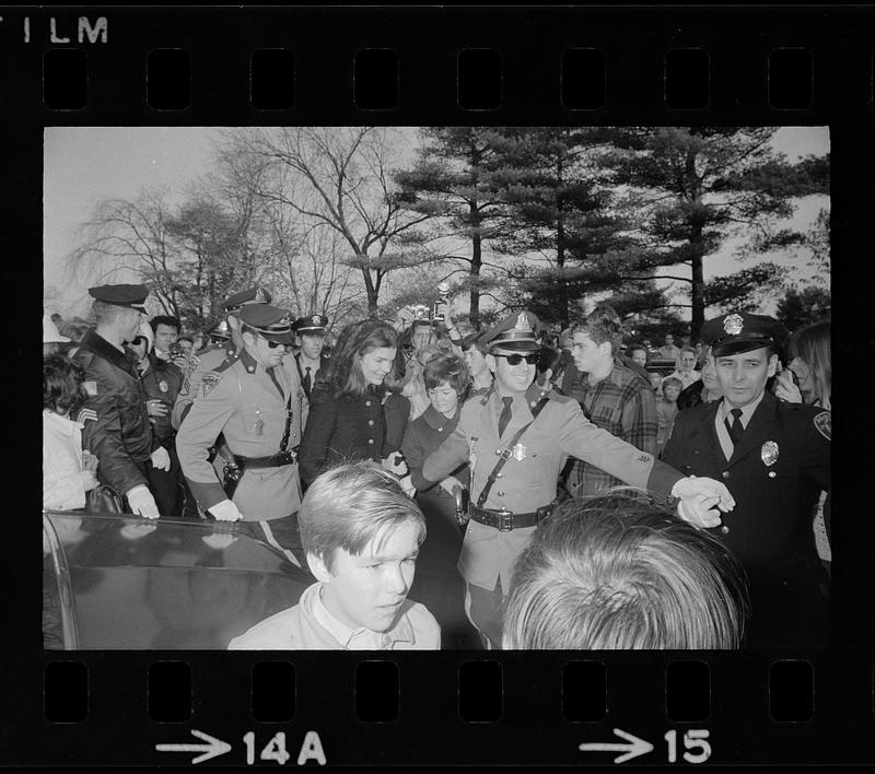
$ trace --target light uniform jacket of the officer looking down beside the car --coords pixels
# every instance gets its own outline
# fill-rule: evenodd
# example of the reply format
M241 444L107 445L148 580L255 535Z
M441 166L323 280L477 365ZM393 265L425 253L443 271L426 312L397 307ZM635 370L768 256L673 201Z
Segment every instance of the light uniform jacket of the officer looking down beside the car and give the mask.
M226 494L210 465L209 449L221 433L232 454L269 457L280 450L285 430L287 403L291 395L292 423L288 448L301 441L301 385L293 370L278 365L265 368L242 350L232 361L224 359L201 378L200 394L186 414L176 436L176 452L201 509ZM289 516L301 505L298 465L245 468L233 497L244 520Z

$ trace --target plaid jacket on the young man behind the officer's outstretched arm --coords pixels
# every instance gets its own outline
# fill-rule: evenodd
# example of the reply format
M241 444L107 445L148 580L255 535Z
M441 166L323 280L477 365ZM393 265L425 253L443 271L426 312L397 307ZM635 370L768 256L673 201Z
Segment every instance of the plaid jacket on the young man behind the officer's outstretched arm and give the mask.
M637 446L656 454L656 398L653 388L634 371L614 359L607 378L592 386L586 374L571 363L565 371L562 390L574 398L585 417L596 426ZM565 490L572 496L595 494L609 486L622 486L619 479L579 459L569 460Z

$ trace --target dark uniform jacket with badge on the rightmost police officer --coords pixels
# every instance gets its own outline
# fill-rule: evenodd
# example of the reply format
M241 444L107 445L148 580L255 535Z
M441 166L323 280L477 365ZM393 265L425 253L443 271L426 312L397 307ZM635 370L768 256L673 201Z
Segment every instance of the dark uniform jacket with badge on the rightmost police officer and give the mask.
M750 582L754 646L804 646L828 622L827 577L812 529L821 489L829 490L829 413L765 392L727 461L718 439L720 400L678 412L663 460L692 476L723 481L735 509L728 531L713 532ZM769 448L777 444L771 465ZM793 642L795 640L795 642Z

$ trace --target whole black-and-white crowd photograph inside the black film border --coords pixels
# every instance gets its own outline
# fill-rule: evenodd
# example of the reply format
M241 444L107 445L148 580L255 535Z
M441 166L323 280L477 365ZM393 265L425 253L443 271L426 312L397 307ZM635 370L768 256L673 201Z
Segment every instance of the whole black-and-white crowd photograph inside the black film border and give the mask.
M828 127L43 140L44 648L832 646Z

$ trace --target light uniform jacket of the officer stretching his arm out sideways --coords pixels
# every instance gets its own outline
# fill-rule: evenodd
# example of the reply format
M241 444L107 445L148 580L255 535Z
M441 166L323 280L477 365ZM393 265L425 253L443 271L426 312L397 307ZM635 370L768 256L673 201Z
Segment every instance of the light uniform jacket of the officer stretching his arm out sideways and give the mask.
M548 398L535 422L525 431L489 492L483 507L530 513L556 499L556 483L565 459L578 457L633 486L667 496L680 473L652 454L612 436L587 420L576 400L555 390L546 394L533 384L515 396L511 421L499 438L501 398L492 389L470 398L462 408L456 430L422 466L422 477L436 482L468 460L471 469L470 501L476 503L499 456L516 431L532 421L532 409ZM499 531L471 519L465 531L458 568L470 584L493 589L500 577L509 589L517 556L528 546L535 527Z

